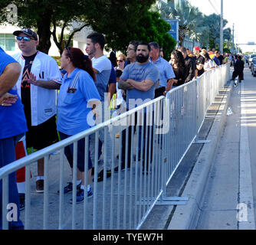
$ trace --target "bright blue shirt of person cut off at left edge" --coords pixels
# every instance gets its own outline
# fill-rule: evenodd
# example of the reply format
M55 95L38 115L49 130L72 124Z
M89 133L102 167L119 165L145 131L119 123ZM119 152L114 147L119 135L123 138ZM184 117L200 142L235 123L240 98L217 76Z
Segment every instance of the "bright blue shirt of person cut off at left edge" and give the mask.
M0 76L5 70L8 64L16 63L16 60L5 54L5 51L0 47ZM18 96L17 87L13 87L8 93ZM18 136L21 133L26 132L27 123L23 110L21 99L18 97L16 103L12 106L0 106L0 139L10 138L12 136Z

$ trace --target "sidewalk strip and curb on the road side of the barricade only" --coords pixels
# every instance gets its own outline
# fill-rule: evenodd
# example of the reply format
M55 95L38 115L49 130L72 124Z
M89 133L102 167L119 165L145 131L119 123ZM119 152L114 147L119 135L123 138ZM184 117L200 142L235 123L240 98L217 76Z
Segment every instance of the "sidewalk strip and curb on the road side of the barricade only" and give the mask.
M199 132L199 140L207 139L211 142L193 144L169 183L168 196L187 197L189 201L186 205L154 207L142 229L186 230L196 223L205 182L225 124L231 89L231 84L228 83L220 91L215 103L208 109Z

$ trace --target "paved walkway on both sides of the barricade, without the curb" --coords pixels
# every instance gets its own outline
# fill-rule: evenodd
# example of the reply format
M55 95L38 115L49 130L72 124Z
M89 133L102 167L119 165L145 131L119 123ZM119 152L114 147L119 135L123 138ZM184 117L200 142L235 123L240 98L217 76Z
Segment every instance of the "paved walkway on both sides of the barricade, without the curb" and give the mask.
M215 118L212 116L218 116L218 113L222 111L222 101L224 100L225 96L227 95L228 90L224 89L221 91L220 95L216 97L216 103L214 103L209 109L208 109L208 118L205 119L205 123L202 126L201 132L199 133L199 139L207 139L208 136L212 133L212 128L215 125ZM118 140L116 139L116 146L118 144ZM205 144L199 143L199 144L193 144L191 148L189 149L189 152L185 155L185 158L183 159L182 163L179 165L179 168L177 169L175 175L173 175L172 180L169 183L169 186L166 191L166 195L169 197L174 196L185 196L189 197L189 194L185 193L185 188L187 187L189 183L189 179L191 179L193 169L196 166L196 163L198 162L199 156L202 153L202 149ZM51 155L50 161L49 161L49 217L48 217L48 229L57 229L58 228L58 219L59 219L59 196L57 194L57 191L59 189L59 152L55 155ZM116 162L117 163L117 162ZM118 163L117 163L118 164ZM43 224L43 206L44 206L44 195L38 194L35 192L34 188L34 182L36 178L36 164L33 164L31 166L31 171L33 173L33 178L31 179L31 229L42 229ZM123 189L124 186L124 179L125 175L132 176L132 179L134 180L134 168L132 169L132 172L122 172L121 173L121 189ZM115 195L115 199L113 201L113 214L114 214L114 221L113 221L113 229L123 229L133 227L133 224L129 224L130 218L126 217L126 219L123 219L123 217L120 217L120 223L117 224L117 174L113 175L113 190ZM143 177L144 178L144 177ZM67 164L67 161L65 161L65 169L64 169L64 182L71 181L72 175L71 170L69 168L69 165ZM111 179L107 179L107 185L111 184ZM150 183L149 178L145 178L146 183ZM132 183L130 185L130 183ZM134 182L130 182L130 190L133 190ZM94 185L94 184L93 184ZM147 184L146 184L147 185ZM202 183L201 183L202 185ZM97 204L97 207L99 208L99 211L97 212L97 227L99 229L104 228L108 229L110 227L110 213L106 214L105 221L102 223L102 198L105 198L106 201L106 210L110 211L110 190L107 190L107 195L103 197L103 183L99 185L98 188L98 194L99 194L99 202ZM131 192L132 193L132 192ZM64 196L64 224L63 229L71 229L72 227L72 205L70 204L70 199L72 198L71 194L67 194ZM130 200L133 200L133 194L130 195L128 202L126 203L126 206L123 206L123 193L120 196L121 201L121 214L125 214L126 211L130 209ZM183 207L189 207L189 204L191 203L192 198L189 197L189 202L187 205ZM76 207L76 229L82 229L83 228L83 212L84 207L85 211L89 212L89 218L86 221L87 229L92 229L94 225L93 221L93 204L94 200L90 199L87 203L87 206L85 207L84 204L78 204ZM176 205L156 205L153 207L153 210L150 212L149 216L147 217L146 221L143 223L141 229L147 229L147 230L163 230L170 227L170 224L172 224L172 221L175 219L174 215L176 211L178 210L178 206ZM143 212L143 211L142 211ZM145 211L144 211L145 212ZM143 213L142 213L143 214ZM25 219L25 211L21 211L21 220L24 221ZM184 223L183 223L184 224Z

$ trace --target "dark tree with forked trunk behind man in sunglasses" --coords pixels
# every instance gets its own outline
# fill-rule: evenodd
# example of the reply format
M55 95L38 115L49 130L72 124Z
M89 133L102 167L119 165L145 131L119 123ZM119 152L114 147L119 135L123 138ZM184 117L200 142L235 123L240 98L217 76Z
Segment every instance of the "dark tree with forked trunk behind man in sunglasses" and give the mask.
M23 1L5 1L5 5L15 4L18 8L19 27L34 28L38 33L38 50L48 54L51 47L51 35L57 47L62 51L61 43L63 39L64 28L70 28L71 22L83 20L86 6L90 3L87 0L23 0ZM5 11L0 12L2 20L7 21ZM74 33L80 31L81 27L71 31L71 38ZM57 40L56 28L61 27L61 41ZM69 41L71 41L71 38Z

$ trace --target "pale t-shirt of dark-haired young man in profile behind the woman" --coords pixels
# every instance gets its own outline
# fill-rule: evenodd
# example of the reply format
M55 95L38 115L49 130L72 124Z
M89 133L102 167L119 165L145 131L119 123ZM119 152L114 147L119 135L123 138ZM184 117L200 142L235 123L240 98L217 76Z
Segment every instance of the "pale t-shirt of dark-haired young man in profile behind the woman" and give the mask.
M107 93L112 64L105 55L98 58L93 57L91 61L94 69L98 71L96 73L96 87L100 93L100 100L104 101L104 94Z

